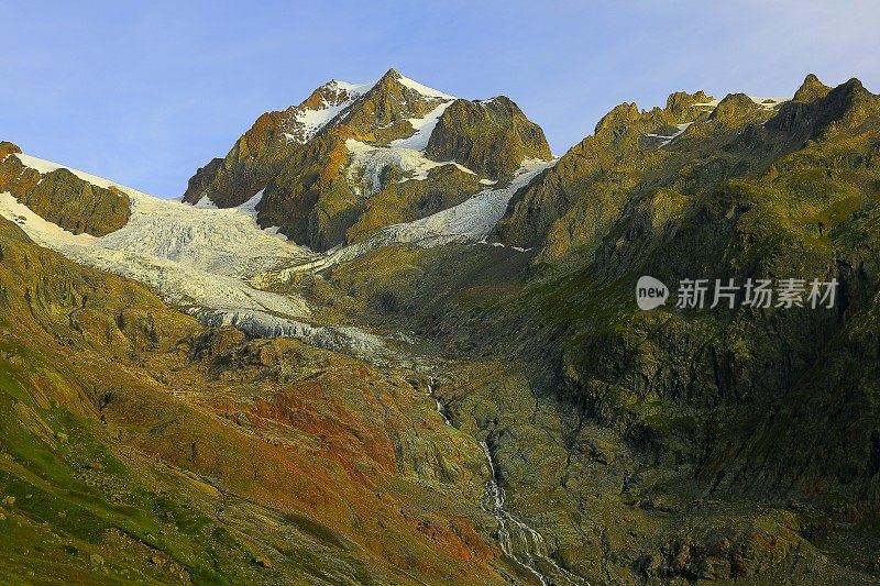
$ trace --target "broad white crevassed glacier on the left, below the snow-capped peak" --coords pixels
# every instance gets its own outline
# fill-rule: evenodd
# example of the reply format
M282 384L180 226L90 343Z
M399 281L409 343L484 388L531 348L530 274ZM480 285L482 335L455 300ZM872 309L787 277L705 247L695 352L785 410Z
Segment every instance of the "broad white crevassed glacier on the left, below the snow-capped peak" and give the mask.
M41 173L62 167L30 155L16 156ZM199 209L69 170L94 185L116 186L125 192L132 208L129 222L102 237L75 235L43 220L9 194L0 195L0 214L16 222L41 246L144 283L174 303L309 316L302 299L262 291L246 283L266 269L314 255L261 230L253 199L240 208Z

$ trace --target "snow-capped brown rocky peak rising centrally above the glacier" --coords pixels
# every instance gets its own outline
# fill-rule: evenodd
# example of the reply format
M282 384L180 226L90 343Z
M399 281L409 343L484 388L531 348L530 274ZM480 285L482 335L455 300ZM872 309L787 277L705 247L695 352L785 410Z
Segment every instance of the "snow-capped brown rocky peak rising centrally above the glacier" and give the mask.
M323 251L459 203L524 158L550 151L513 101L455 99L392 69L372 85L330 81L264 114L196 173L184 201L233 207L262 191L261 225Z

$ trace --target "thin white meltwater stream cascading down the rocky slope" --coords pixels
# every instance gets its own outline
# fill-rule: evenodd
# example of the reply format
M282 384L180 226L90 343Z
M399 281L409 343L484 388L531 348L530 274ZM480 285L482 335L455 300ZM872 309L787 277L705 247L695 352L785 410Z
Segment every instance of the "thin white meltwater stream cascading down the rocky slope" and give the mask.
M435 383L431 380L428 385L428 395L435 400L437 412L443 418L446 424L452 425L447 408L433 394L435 388ZM550 557L543 537L510 512L505 500L504 488L498 484L495 461L492 457L488 444L480 442L480 445L483 447L490 468L486 493L480 502L480 507L495 517L498 522L497 539L502 551L535 575L543 586L588 586L585 579L575 576Z

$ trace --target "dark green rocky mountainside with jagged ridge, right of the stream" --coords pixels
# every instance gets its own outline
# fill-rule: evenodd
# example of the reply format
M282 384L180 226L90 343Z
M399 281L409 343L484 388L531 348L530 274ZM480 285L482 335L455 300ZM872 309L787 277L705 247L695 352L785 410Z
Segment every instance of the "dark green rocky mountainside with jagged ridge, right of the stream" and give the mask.
M880 98L811 75L793 98L618 106L513 195L495 247L324 276L381 323L524 365L441 394L580 575L876 583L879 226ZM838 290L829 309L641 311L641 275Z

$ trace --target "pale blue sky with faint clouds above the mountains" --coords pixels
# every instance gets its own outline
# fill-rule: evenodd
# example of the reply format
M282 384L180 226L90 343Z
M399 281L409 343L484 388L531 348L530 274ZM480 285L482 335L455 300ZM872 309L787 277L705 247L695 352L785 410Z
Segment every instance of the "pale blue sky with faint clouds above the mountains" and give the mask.
M21 2L0 0L0 140L177 197L260 115L389 67L506 95L554 153L615 104L791 95L813 71L880 91L872 1Z

